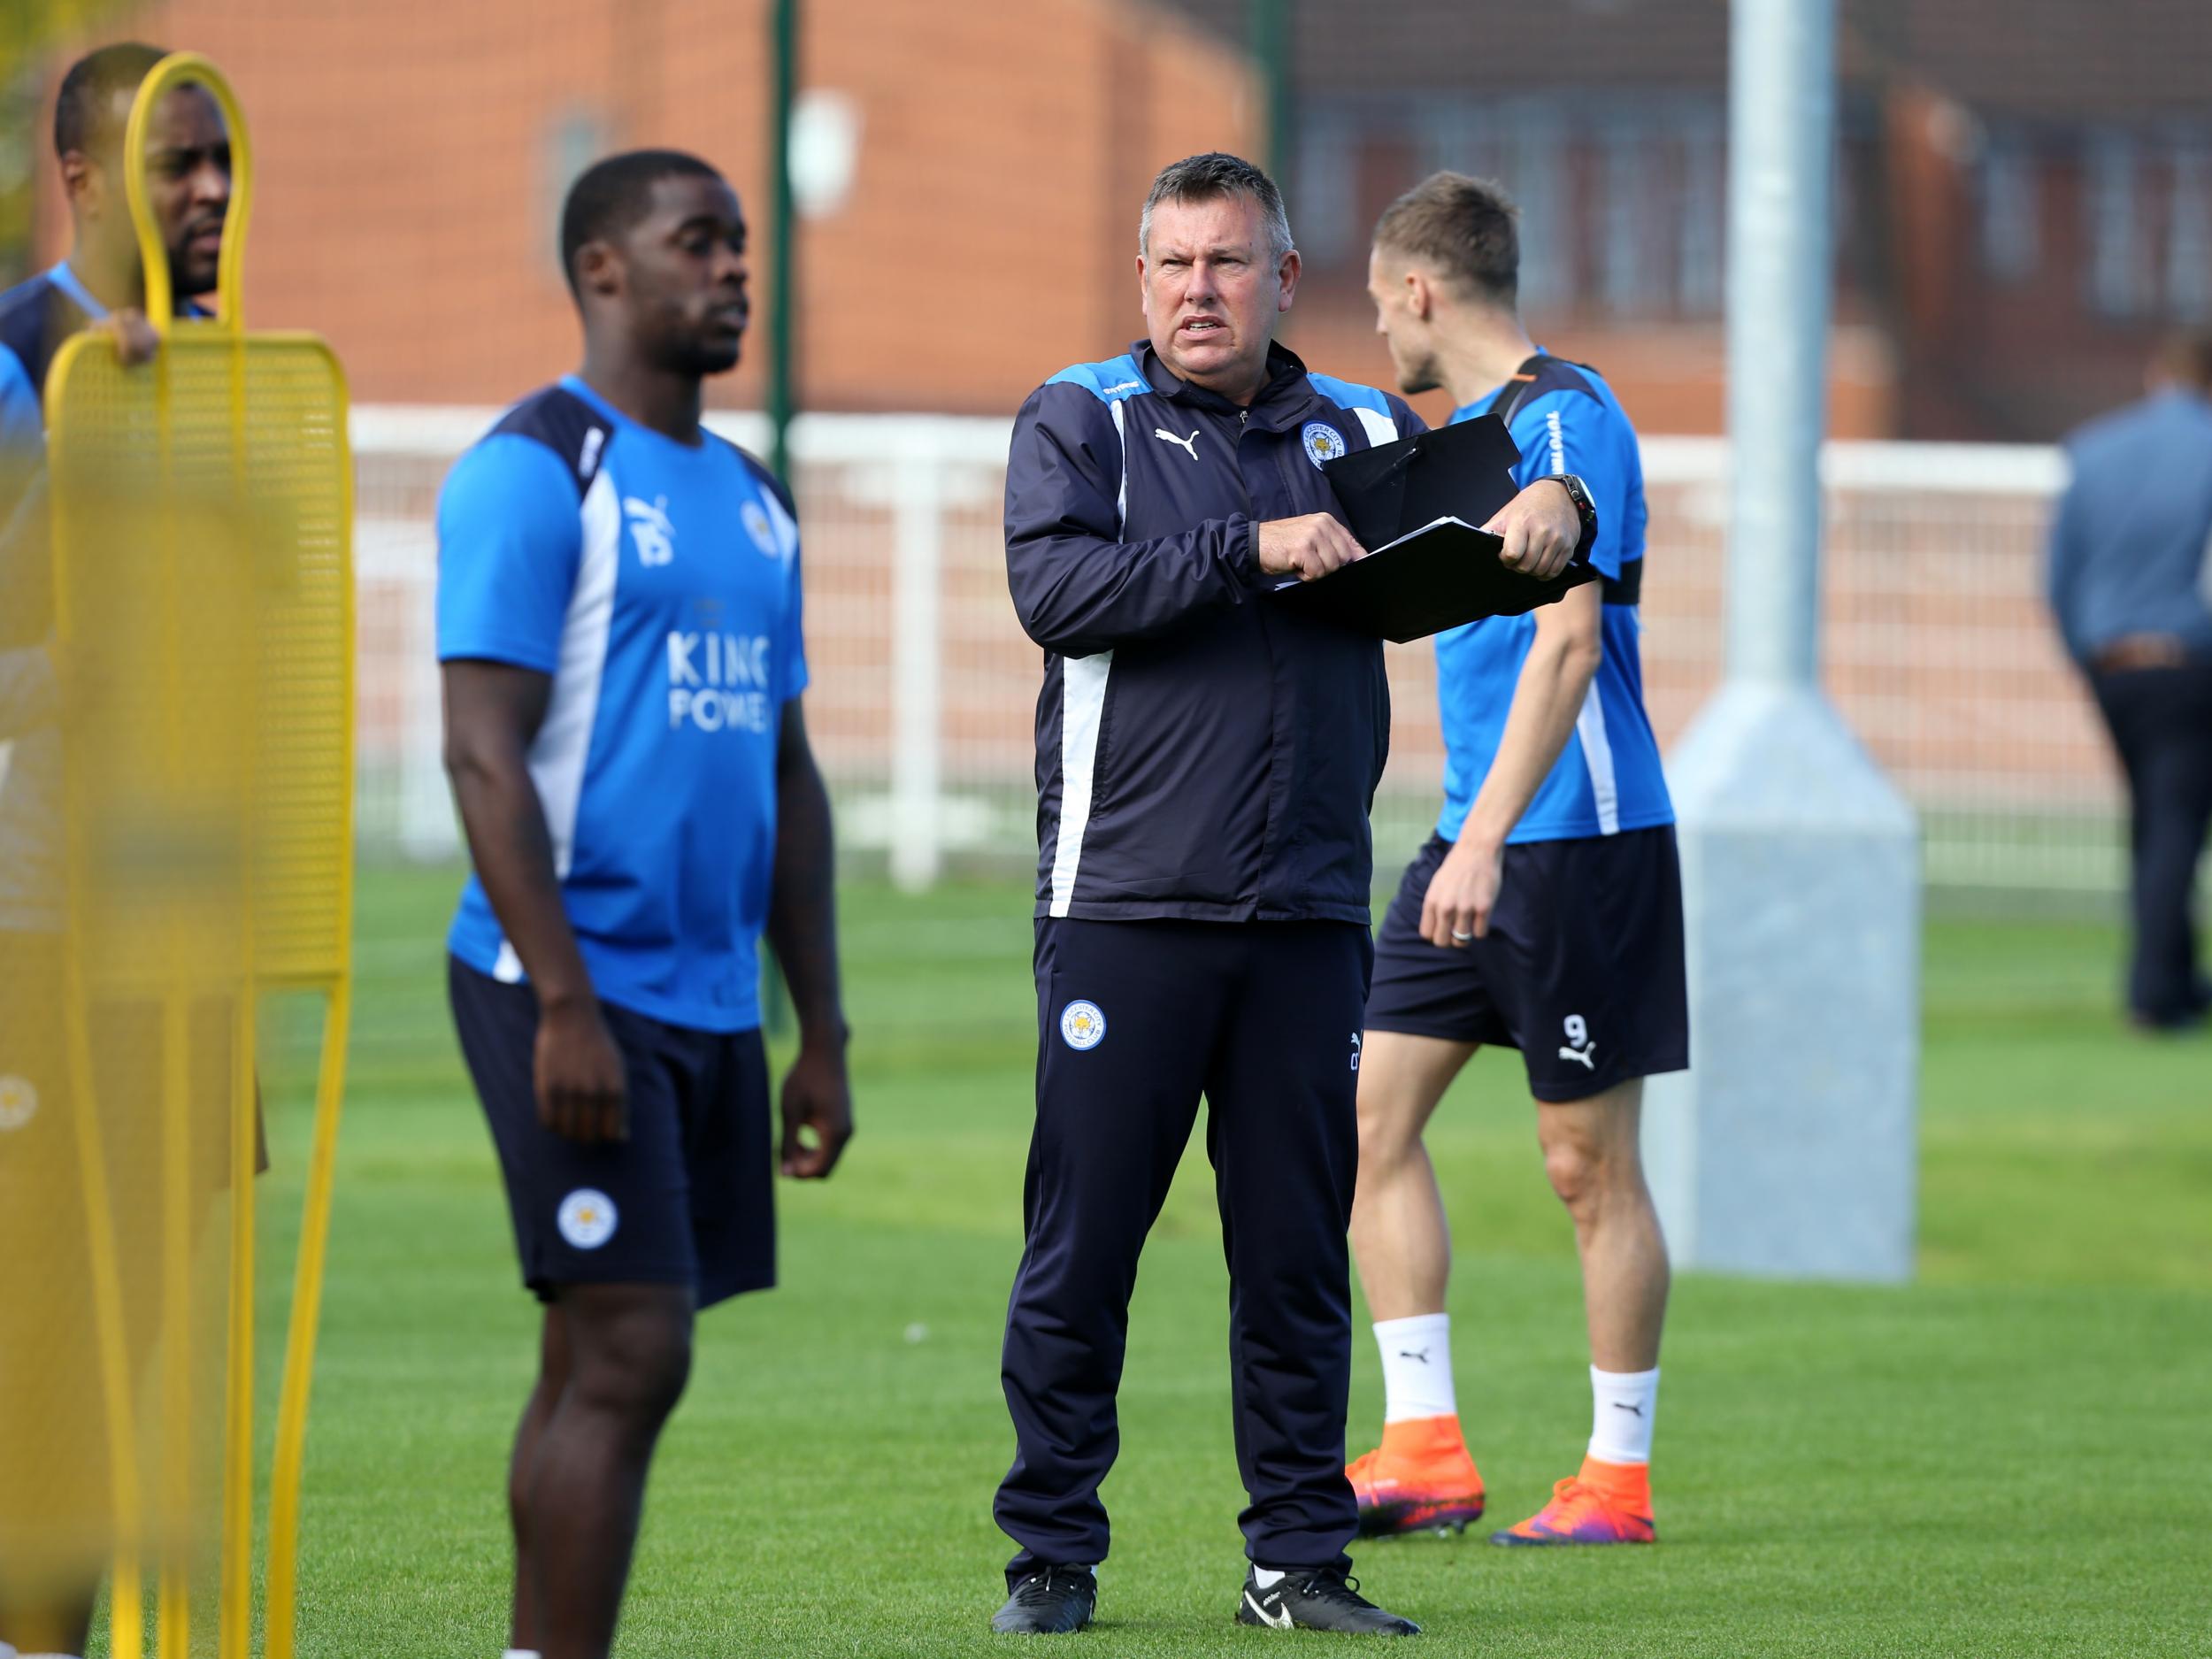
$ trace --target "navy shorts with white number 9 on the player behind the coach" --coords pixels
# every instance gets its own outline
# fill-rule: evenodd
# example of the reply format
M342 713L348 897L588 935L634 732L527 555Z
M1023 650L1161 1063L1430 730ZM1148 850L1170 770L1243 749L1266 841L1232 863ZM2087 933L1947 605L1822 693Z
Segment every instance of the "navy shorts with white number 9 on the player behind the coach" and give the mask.
M1451 843L1407 865L1376 936L1369 1031L1520 1048L1537 1099L1588 1099L1690 1064L1674 830L1506 847L1489 931L1420 936L1420 902Z

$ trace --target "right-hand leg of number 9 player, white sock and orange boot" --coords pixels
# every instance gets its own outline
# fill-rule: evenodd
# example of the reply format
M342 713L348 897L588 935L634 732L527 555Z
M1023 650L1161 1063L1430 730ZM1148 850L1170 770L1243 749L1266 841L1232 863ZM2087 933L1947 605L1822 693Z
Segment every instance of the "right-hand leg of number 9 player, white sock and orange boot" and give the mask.
M1500 1544L1648 1544L1650 1444L1668 1259L1644 1181L1644 1082L1577 1102L1537 1102L1544 1172L1575 1221L1590 1327L1593 1427L1582 1471Z

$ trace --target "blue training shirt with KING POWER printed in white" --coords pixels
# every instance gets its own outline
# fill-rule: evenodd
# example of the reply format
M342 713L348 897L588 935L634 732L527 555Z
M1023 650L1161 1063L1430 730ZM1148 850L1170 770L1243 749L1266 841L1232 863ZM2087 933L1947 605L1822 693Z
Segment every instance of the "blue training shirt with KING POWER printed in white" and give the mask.
M553 677L531 781L593 989L668 1024L761 1022L776 739L807 684L799 524L774 476L566 376L438 498L438 659ZM451 951L522 980L471 876Z

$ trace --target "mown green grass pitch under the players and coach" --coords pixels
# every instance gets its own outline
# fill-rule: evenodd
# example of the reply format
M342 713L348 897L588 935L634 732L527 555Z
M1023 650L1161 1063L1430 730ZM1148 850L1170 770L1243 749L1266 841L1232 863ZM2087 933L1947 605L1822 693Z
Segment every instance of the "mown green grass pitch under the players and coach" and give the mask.
M301 1652L491 1659L502 1462L533 1303L445 1015L451 874L369 874L307 1458ZM1026 900L843 894L860 1135L785 1183L783 1287L701 1321L619 1650L1002 1652L1011 1453L998 1332L1029 1126ZM1681 1274L1650 1551L1363 1546L1451 1655L2212 1652L2212 1042L2110 1013L2101 927L1940 922L1927 945L1922 1274L1847 1290ZM305 1148L272 1086L283 1234ZM1511 1055L1433 1137L1460 1398L1500 1524L1588 1433L1573 1243ZM281 1237L272 1237L281 1245ZM270 1276L263 1349L281 1283ZM1380 1422L1365 1321L1354 1449ZM1144 1263L1106 1486L1097 1655L1254 1652L1225 1276L1192 1150ZM265 1462L263 1462L265 1467ZM1312 1637L1294 1637L1294 1646Z

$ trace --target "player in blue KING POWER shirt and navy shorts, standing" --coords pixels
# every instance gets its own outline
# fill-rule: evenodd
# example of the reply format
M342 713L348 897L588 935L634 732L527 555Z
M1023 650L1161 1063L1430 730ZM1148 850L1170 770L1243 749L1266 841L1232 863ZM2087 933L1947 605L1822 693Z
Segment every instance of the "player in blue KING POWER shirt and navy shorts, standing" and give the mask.
M783 1172L852 1135L799 526L699 422L745 334L745 219L675 150L568 192L584 367L438 502L447 768L476 865L451 998L544 1303L509 1480L511 1652L599 1659L692 1314L774 1283L765 929L799 1013Z

